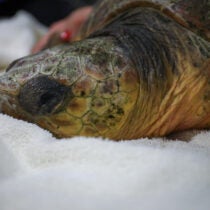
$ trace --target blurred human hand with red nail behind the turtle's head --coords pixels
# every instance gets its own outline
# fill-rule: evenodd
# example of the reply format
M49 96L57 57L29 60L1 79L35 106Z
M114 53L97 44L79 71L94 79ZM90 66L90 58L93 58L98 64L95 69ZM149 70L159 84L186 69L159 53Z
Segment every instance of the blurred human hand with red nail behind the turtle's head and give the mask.
M56 35L61 34L64 31L69 31L69 38L74 38L80 30L81 25L86 21L89 14L92 11L91 6L82 7L75 10L66 18L55 22L49 28L49 31L44 35L32 48L32 53L37 53L45 48L51 39L55 38ZM62 41L62 40L61 40Z

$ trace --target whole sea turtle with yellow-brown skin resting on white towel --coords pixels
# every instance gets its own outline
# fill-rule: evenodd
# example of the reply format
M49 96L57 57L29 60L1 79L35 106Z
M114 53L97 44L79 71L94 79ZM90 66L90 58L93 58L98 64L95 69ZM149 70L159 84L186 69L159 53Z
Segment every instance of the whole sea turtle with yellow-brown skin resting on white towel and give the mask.
M3 113L57 137L210 128L210 0L104 0L77 41L13 62Z

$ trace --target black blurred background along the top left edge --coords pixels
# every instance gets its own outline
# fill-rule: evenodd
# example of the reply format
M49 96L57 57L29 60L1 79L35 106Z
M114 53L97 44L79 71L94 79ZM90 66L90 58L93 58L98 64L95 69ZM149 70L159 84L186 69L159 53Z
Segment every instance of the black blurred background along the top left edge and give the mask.
M49 26L73 10L93 5L96 0L0 0L0 18L13 16L18 10L31 13L42 24Z

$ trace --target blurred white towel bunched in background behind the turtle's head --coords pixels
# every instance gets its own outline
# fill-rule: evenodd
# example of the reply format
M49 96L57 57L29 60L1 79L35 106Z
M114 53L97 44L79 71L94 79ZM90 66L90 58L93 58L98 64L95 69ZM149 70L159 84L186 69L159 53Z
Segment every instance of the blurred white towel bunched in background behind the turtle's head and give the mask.
M46 32L29 13L20 11L9 19L0 19L0 69L28 55L34 43Z

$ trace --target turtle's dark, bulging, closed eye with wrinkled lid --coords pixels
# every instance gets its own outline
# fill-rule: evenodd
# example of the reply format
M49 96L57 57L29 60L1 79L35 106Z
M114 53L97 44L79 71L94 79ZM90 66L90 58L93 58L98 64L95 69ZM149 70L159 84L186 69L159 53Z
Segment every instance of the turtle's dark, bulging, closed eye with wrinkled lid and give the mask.
M56 112L63 104L69 90L69 87L47 76L39 76L23 85L18 101L20 106L30 114L50 114Z

